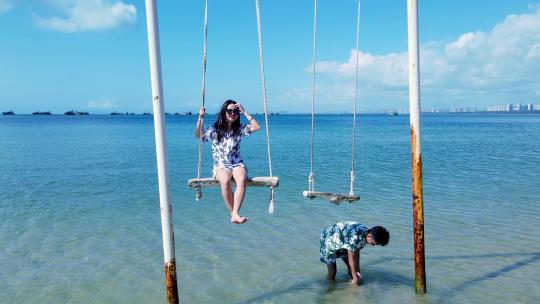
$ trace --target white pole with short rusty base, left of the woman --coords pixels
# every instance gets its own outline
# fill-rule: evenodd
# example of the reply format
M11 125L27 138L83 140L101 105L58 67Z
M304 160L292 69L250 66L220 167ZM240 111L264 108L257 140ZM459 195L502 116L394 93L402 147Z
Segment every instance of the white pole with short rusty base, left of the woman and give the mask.
M167 302L178 303L172 204L167 164L167 132L165 129L159 28L155 0L146 0L146 27L148 30L148 52L150 57L150 75L152 83L152 107L154 111L154 132L159 183L159 205L161 210L161 231L163 236L165 285L167 289Z

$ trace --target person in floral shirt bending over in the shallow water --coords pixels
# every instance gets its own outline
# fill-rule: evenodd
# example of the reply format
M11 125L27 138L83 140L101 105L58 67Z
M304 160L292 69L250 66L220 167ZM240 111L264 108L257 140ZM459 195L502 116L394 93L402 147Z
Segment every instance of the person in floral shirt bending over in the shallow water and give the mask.
M366 244L386 246L390 234L382 226L371 229L356 222L338 222L321 233L321 262L326 264L329 282L336 279L336 259L341 258L349 271L351 283L362 284L360 249Z

